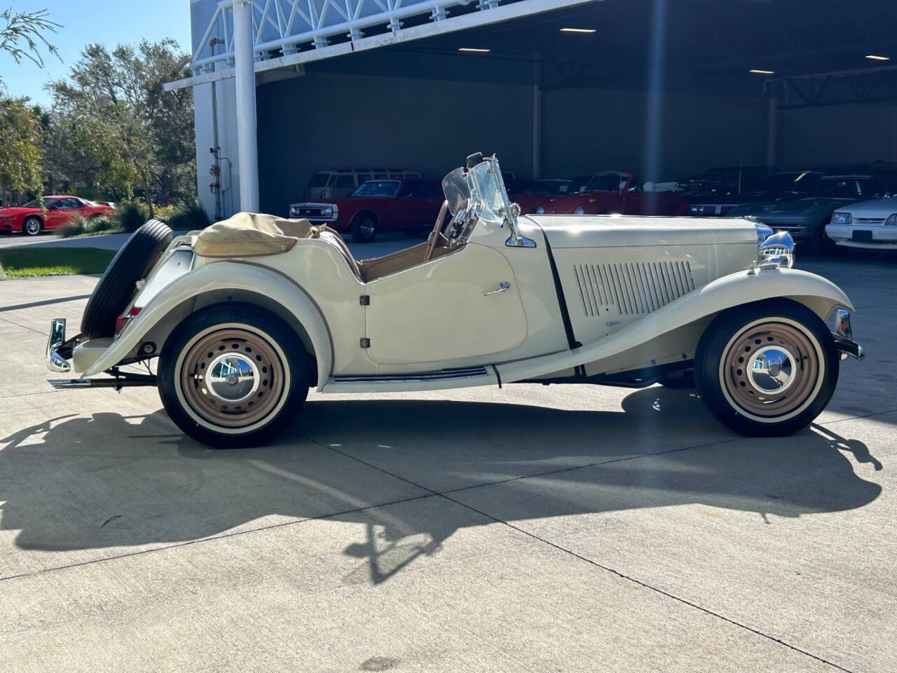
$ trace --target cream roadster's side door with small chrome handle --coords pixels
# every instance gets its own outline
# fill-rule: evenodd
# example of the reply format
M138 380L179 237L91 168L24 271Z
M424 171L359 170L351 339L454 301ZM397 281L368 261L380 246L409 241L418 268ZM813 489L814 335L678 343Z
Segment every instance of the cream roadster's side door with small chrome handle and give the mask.
M522 344L527 319L517 282L500 252L468 243L426 264L366 284L365 336L377 363L440 363L494 354Z

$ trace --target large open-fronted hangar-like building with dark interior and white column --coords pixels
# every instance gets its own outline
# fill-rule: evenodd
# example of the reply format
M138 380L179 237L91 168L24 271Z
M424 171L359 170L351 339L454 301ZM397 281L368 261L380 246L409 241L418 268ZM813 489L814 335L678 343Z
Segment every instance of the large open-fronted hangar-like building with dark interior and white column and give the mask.
M475 151L519 179L897 163L890 0L193 0L191 17L193 76L167 88L194 87L219 217L285 215L318 170L440 179Z

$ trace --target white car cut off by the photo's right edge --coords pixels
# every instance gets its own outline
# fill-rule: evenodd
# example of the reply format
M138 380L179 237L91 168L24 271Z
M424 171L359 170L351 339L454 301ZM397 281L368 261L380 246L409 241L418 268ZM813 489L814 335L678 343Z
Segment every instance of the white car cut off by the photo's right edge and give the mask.
M832 213L825 235L845 248L897 250L897 198L875 198Z

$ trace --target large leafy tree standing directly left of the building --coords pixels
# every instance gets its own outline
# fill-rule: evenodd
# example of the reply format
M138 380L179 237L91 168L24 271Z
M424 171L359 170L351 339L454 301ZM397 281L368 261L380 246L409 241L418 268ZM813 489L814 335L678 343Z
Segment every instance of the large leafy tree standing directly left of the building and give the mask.
M110 193L143 189L151 216L154 197L192 192L193 93L162 91L189 75L189 60L172 39L88 45L69 78L49 84L51 161Z

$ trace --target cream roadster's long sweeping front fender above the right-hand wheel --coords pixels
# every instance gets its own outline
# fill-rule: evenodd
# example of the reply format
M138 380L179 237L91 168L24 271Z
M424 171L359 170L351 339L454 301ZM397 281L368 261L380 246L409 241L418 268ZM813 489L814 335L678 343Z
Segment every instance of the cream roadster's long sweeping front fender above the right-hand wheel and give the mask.
M821 275L789 268L738 271L685 294L609 337L598 338L562 353L500 364L497 369L503 381L535 379L580 364L608 360L722 310L774 298L788 298L802 303L823 320L835 306L853 310L853 304L840 287ZM694 344L685 350L693 351Z

